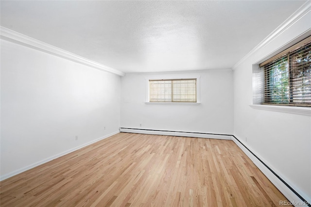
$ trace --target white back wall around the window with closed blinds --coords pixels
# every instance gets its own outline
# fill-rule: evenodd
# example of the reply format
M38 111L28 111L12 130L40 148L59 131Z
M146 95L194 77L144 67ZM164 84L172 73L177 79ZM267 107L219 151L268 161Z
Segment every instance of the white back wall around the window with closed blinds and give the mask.
M147 79L200 77L199 105L145 104ZM231 69L194 73L133 73L121 78L121 127L233 133ZM140 123L142 124L140 126Z

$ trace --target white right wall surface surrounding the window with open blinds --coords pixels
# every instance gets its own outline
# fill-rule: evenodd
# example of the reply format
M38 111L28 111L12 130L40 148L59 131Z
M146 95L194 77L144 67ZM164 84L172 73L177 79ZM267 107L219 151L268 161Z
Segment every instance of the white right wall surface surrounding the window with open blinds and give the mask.
M311 117L249 105L253 104L252 65L307 31L310 34L310 19L309 12L234 68L234 135L309 202Z

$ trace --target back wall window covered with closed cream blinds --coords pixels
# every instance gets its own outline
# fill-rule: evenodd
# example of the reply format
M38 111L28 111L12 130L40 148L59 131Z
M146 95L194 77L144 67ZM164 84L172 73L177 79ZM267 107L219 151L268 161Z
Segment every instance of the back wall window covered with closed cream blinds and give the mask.
M197 103L197 79L149 80L149 102Z

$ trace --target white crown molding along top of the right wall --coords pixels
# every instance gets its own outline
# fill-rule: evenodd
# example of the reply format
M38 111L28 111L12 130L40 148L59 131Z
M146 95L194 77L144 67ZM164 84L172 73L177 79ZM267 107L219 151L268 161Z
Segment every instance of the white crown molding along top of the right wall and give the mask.
M248 52L239 62L237 62L232 69L236 69L242 62L249 58L252 54L257 52L259 49L265 47L267 44L272 42L277 36L281 35L284 31L290 28L296 21L304 17L311 11L311 0L304 3L297 11L288 17L281 25L279 25L270 35L264 38L253 50Z

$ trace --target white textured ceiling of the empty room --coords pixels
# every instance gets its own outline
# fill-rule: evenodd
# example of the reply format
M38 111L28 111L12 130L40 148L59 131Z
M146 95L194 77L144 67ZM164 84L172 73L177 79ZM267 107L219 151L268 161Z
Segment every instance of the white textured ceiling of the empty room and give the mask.
M0 1L0 24L122 72L232 68L304 0Z

